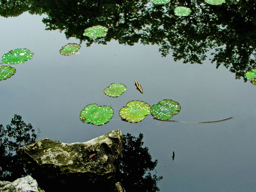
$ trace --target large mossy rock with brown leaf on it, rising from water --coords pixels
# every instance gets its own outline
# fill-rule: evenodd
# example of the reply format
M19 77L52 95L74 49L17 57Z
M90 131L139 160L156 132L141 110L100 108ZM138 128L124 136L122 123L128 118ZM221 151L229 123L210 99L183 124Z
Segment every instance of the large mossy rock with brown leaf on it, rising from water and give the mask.
M42 139L20 147L33 177L46 191L115 189L117 158L123 134L120 129L83 143L61 143Z

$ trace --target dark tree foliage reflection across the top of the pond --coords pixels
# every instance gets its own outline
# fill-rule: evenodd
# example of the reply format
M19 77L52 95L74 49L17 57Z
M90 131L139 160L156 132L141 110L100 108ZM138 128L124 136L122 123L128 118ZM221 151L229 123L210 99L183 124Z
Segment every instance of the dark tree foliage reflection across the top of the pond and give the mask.
M173 12L176 6L189 7L192 12L177 17ZM44 13L48 15L43 19L47 30L64 30L67 38L76 37L87 46L111 39L125 45L157 44L163 56L172 52L174 60L183 59L184 63L202 63L206 53L214 50L211 62L216 62L217 68L222 64L246 81L245 73L256 68L255 10L254 0L227 0L217 6L202 0L166 5L145 0L1 0L0 14ZM94 25L108 27L107 36L95 40L83 36L84 29Z

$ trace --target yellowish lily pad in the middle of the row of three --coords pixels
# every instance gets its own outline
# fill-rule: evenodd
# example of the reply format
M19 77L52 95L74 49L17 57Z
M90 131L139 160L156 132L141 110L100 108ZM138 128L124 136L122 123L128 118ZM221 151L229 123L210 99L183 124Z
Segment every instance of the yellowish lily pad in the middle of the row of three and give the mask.
M119 111L122 119L128 122L140 122L150 113L150 105L143 101L130 101Z

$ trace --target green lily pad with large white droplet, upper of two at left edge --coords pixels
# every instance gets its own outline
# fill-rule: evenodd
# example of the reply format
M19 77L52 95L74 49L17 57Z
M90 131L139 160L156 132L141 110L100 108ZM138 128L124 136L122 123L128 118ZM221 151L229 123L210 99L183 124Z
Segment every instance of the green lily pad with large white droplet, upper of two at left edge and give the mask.
M19 64L32 59L33 53L28 49L14 49L3 55L1 64Z

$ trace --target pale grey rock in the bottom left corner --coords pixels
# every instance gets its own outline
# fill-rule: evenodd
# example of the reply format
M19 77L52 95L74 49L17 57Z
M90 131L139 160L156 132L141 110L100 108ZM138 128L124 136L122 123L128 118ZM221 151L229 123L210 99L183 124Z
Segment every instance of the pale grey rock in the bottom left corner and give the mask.
M41 190L35 179L31 176L16 179L13 182L0 181L0 192L44 192Z

